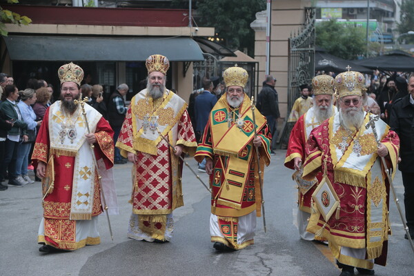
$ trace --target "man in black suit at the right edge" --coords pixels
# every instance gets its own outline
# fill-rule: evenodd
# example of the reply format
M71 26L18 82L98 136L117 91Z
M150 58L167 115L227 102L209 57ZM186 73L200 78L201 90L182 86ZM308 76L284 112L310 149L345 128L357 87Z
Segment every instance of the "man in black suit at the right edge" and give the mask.
M404 206L411 239L414 239L414 74L408 78L408 92L405 97L393 103L391 109L391 130L400 137L402 183L404 184ZM405 238L408 239L407 235Z

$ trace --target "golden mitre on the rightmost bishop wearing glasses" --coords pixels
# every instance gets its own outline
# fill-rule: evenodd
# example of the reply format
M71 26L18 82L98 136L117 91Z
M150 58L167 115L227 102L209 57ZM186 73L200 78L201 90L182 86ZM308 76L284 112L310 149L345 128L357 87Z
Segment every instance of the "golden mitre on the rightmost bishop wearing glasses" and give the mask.
M335 91L337 97L357 95L362 96L365 85L365 77L360 72L346 71L335 77Z

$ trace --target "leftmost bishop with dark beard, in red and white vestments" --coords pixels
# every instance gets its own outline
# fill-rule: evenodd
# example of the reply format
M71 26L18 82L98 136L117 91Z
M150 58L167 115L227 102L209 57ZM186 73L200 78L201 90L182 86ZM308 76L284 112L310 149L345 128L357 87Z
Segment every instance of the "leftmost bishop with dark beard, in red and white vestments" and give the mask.
M93 155L106 168L113 166L113 131L102 115L85 105L90 132L79 99L83 70L68 63L58 70L61 100L46 110L32 159L42 179L43 218L39 250L76 250L99 244L97 215L102 213L97 167ZM94 144L92 150L90 144Z

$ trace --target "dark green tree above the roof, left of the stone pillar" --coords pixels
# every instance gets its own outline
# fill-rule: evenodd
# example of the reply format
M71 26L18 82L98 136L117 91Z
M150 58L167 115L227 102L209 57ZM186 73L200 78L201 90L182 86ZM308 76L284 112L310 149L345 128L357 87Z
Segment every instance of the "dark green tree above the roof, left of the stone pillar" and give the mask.
M217 37L232 50L248 48L253 55L255 32L250 23L256 12L266 10L266 0L197 0L199 26L214 27Z

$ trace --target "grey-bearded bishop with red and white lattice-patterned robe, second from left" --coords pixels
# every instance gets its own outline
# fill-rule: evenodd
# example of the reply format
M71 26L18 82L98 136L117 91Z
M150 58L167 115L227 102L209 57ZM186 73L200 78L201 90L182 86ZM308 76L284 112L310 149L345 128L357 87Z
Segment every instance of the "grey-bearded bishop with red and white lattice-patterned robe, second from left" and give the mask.
M134 163L128 237L147 242L170 241L172 210L184 205L179 156L197 147L187 103L165 88L169 66L162 55L146 59L147 88L131 99L116 144Z

